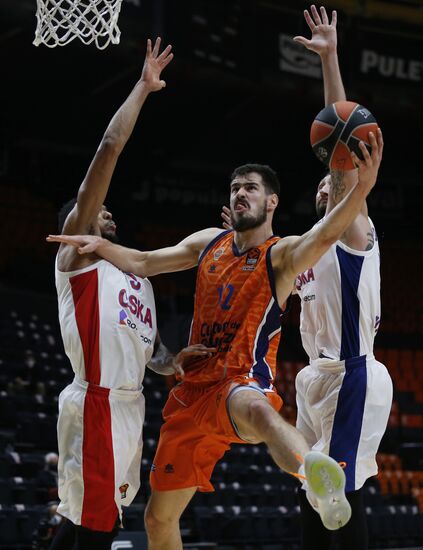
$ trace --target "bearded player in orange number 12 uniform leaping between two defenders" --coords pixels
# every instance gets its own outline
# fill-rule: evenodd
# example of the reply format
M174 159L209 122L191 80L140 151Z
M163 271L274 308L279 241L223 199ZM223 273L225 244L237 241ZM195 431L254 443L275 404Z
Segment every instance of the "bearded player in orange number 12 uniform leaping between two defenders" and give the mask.
M273 235L279 181L268 166L248 164L231 176L234 231L205 229L176 246L151 252L96 236L48 237L76 246L81 254L95 252L143 277L198 265L190 343L216 347L217 352L184 365L185 377L170 392L163 410L165 423L145 513L151 550L182 549L179 518L197 490L213 490L213 468L232 443L264 442L280 468L305 474L328 529L349 520L342 469L327 455L309 452L300 432L278 414L282 400L272 381L283 304L297 274L340 238L373 188L381 136L372 137L371 145L369 155L361 144L365 162L351 192L318 229L301 236Z

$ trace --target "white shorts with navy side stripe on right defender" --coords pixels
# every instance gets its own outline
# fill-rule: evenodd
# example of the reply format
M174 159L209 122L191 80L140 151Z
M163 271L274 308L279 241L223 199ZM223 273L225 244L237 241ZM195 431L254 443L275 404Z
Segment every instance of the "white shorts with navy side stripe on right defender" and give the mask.
M296 378L297 428L309 446L346 462L347 492L377 474L376 453L392 405L392 381L371 356L317 359Z

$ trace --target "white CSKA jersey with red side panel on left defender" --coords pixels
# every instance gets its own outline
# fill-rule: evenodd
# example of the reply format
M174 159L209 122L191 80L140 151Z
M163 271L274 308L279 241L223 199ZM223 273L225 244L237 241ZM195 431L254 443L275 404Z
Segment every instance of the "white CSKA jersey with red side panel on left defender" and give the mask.
M63 272L56 288L63 344L75 375L91 384L140 390L156 338L150 281L106 260Z

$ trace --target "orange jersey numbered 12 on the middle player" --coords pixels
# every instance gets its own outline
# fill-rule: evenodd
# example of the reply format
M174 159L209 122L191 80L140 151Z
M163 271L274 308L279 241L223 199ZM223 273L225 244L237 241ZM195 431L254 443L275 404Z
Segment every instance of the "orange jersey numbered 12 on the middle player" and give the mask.
M218 348L185 368L185 382L246 375L272 389L280 340L271 247L279 237L240 254L233 231L218 235L200 257L190 344Z

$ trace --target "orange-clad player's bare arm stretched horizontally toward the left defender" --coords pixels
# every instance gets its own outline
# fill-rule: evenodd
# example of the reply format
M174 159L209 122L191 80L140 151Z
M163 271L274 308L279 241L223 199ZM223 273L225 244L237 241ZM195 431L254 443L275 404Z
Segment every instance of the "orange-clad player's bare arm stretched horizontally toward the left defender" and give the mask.
M221 232L217 228L203 229L175 246L150 252L113 244L95 235L49 235L47 241L70 244L79 254L95 253L126 273L151 277L195 267L201 252Z

